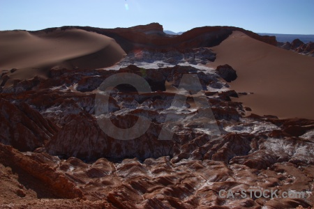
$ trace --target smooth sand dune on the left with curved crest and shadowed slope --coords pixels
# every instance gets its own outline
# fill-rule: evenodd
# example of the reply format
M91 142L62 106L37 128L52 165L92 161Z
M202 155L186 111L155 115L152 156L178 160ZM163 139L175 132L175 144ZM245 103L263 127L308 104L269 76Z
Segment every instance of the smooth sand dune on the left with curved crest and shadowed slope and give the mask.
M17 68L14 79L45 75L48 68L104 68L120 61L125 52L114 39L80 29L46 33L0 32L0 70Z

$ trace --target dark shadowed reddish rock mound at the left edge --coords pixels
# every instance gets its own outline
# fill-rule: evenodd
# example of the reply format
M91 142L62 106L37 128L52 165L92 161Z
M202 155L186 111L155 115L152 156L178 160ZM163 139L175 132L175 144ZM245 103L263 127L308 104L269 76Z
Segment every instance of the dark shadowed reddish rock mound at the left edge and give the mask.
M33 151L49 141L58 128L28 104L0 99L0 142L21 151Z

